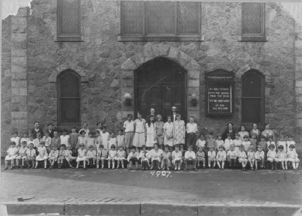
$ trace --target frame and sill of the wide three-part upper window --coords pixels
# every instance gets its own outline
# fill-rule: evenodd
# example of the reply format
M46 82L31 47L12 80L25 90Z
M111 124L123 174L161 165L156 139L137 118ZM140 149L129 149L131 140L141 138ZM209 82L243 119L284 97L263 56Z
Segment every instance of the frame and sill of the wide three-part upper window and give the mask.
M123 1L122 1L123 2ZM142 34L124 34L123 33L123 28L122 28L122 2L120 4L120 35L118 36L118 41L204 41L204 36L202 35L201 32L201 3L196 2L199 4L198 6L198 33L196 34L179 34L177 31L177 25L178 25L178 11L179 11L179 4L181 2L173 2L174 3L174 14L175 14L175 19L174 19L174 29L175 33L174 34L161 34L161 33L146 33L147 28L146 28L146 19L147 17L145 16L146 10L145 10L145 5L147 2L143 2L143 13L142 13ZM188 2L189 3L189 2ZM195 2L194 2L195 3Z

